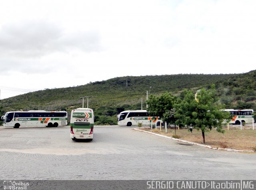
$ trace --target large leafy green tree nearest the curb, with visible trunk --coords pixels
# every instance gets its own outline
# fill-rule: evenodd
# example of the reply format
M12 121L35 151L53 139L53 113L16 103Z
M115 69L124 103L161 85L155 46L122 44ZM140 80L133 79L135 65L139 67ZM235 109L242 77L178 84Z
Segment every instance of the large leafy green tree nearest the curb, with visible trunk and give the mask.
M225 132L222 123L224 119L229 119L229 113L222 111L225 105L218 102L214 85L209 90L201 89L196 98L191 90L185 90L184 94L184 99L179 99L179 103L174 106L176 123L201 130L203 143L205 143L205 133L212 128L216 128L220 133Z

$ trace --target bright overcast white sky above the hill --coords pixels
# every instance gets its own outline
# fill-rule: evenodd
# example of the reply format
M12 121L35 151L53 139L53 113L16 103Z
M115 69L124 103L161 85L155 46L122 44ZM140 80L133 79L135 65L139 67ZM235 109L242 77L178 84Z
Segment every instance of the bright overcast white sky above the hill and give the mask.
M255 0L1 0L0 99L117 76L256 69Z

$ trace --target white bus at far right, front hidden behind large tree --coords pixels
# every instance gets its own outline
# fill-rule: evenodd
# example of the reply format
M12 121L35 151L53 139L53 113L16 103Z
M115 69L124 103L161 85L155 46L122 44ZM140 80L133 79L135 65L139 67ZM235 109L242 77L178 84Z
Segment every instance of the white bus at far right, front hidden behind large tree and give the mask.
M226 109L225 112L230 112L230 116L232 116L230 124L240 125L240 123L253 123L253 110L233 110Z

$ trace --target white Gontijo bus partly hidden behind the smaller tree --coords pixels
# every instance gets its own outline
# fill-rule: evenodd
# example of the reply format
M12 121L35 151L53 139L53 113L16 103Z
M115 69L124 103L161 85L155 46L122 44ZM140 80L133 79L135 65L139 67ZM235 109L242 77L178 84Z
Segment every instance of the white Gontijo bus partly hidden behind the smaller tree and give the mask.
M116 117L118 118L118 125L132 126L138 125L138 123L142 123L142 125L151 125L151 122L156 123L154 117L149 116L147 110L127 110L121 112ZM157 125L160 125L160 122L162 123L162 120L157 120Z

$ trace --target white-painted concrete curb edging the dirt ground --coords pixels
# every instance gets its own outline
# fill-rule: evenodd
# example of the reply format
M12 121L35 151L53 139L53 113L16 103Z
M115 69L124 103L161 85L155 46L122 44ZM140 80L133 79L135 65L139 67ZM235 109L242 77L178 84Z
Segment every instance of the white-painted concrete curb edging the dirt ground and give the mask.
M193 143L193 142L190 142L190 141L185 141L185 140L182 140L182 139L175 139L175 138L172 138L172 137L168 137L168 136L165 136L165 135L160 135L160 134L157 134L157 133L152 133L152 132L149 132L149 131L144 131L144 130L141 130L141 129L138 129L138 128L134 128L134 130L136 131L142 131L142 132L145 132L145 133L150 133L152 135L157 135L157 136L160 136L160 137L164 137L164 138L167 138L167 139L172 139L172 140L175 140L175 141L180 141L180 142L183 142L183 143L188 143L188 144L192 144L192 145L198 145L198 146L201 146L201 147L206 147L208 149L214 149L214 150L224 150L224 151L232 151L232 152L250 152L250 153L255 153L256 151L246 151L246 150L236 150L236 149L224 149L224 148L212 148L210 145L202 145L202 144L199 144L199 143Z

